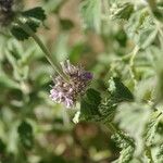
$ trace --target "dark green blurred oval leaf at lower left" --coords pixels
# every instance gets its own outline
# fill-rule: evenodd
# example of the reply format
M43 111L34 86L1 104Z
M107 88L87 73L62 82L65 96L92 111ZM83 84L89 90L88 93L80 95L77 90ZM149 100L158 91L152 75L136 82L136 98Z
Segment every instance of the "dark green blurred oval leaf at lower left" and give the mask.
M17 131L18 131L20 140L21 140L23 147L28 150L32 149L33 143L34 143L32 125L29 123L23 121L20 124Z

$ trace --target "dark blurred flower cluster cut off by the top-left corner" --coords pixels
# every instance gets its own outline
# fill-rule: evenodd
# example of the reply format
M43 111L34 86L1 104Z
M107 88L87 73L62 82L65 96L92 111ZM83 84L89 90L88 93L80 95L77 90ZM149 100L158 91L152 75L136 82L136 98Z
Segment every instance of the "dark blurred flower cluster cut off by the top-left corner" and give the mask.
M13 18L13 0L0 0L0 24L8 25Z

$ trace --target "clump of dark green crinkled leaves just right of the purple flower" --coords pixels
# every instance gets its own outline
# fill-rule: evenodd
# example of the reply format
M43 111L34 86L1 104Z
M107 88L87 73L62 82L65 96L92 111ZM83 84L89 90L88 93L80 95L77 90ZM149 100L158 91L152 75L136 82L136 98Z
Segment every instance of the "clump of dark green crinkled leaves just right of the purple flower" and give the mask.
M117 104L133 99L131 92L120 78L111 78L109 90L103 99L99 91L95 89L87 90L82 99L80 116L86 121L112 122Z

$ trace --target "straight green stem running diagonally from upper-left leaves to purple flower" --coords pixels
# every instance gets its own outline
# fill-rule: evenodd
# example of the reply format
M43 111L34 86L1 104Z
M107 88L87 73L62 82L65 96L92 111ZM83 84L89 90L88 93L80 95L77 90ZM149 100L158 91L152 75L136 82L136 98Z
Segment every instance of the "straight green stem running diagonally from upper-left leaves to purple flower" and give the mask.
M68 77L63 73L63 71L60 68L60 66L57 64L57 62L53 61L53 58L50 53L50 51L47 49L47 47L42 43L42 41L39 39L39 37L33 32L33 29L25 23L22 23L20 20L16 21L16 23L22 27L22 29L27 33L35 42L40 47L42 52L45 53L47 60L52 65L53 70L65 80L68 80Z

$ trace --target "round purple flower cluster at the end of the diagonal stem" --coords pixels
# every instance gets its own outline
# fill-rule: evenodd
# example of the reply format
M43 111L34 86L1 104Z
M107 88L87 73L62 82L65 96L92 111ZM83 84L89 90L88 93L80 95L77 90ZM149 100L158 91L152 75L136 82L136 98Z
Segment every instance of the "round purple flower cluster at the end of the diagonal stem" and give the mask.
M64 103L66 108L75 104L78 97L80 97L92 79L92 74L86 72L82 66L74 66L67 60L61 63L62 70L68 77L68 82L64 80L62 76L54 78L54 86L50 90L50 97L58 103Z

